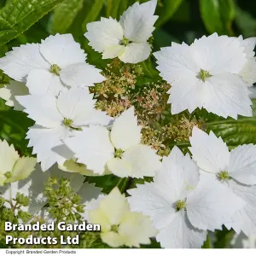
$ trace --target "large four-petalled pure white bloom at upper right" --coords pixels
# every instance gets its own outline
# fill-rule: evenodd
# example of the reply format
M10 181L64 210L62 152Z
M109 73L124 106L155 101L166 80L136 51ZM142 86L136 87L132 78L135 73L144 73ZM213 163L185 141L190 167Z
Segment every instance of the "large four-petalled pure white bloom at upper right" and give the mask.
M250 90L238 75L247 63L239 40L214 33L190 46L174 43L154 56L160 76L172 85L172 114L206 108L224 118L252 116Z

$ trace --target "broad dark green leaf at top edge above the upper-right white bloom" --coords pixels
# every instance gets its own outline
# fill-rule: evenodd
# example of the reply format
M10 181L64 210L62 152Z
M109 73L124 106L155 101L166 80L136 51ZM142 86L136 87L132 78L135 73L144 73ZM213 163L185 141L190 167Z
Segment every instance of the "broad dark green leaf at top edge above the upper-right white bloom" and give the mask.
M232 21L235 17L233 0L201 0L201 18L209 33L232 35Z

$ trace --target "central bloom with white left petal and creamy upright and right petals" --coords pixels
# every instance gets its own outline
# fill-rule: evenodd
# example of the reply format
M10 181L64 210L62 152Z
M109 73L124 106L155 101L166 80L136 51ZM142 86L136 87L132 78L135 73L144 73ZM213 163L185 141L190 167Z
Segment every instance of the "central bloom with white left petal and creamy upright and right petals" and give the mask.
M160 156L141 144L141 129L131 107L113 121L111 131L90 125L64 143L79 163L95 173L102 175L109 171L119 177L153 177L160 168Z

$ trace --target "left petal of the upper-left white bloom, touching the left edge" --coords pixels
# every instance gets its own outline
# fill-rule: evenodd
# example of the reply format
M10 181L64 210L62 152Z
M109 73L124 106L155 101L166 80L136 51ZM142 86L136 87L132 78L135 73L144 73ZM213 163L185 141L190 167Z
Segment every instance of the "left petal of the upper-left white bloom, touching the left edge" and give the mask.
M26 82L26 76L34 69L49 69L49 63L39 52L38 44L25 44L14 47L0 59L0 68L10 78Z

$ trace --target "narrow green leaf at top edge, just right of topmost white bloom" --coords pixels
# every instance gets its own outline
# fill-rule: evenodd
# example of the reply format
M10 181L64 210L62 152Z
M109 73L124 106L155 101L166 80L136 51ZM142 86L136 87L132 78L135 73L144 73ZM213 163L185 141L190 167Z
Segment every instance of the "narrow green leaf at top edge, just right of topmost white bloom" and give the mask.
M159 27L166 23L166 21L169 20L172 15L177 11L178 7L182 2L183 0L164 0L159 15L160 17L156 21L155 26Z

